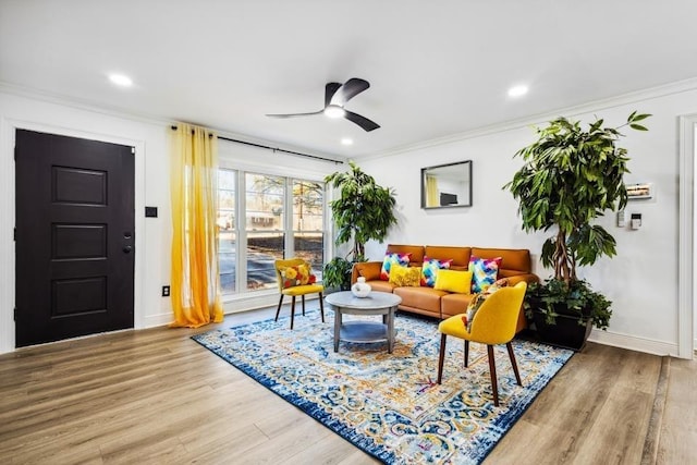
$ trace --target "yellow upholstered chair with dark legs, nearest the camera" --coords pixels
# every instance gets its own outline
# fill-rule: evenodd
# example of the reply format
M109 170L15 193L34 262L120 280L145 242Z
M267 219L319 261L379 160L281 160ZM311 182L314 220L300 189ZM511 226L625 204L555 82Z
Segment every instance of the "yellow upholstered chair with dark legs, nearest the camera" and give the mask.
M445 339L448 335L453 335L465 340L465 367L467 367L468 364L469 341L487 344L489 374L491 375L491 390L493 392L494 405L499 405L497 367L493 358L494 344L505 344L509 350L509 356L511 357L511 365L513 366L515 380L518 386L523 386L521 382L521 375L518 374L518 367L515 363L515 355L513 354L513 345L511 345L511 341L515 335L515 327L518 321L518 314L521 313L526 289L527 283L522 281L514 286L502 287L487 297L473 318L470 331L467 331L467 327L463 321L462 317L464 315L455 315L454 317L450 317L440 322L438 330L442 335L440 339L440 356L438 358L439 384L443 376Z

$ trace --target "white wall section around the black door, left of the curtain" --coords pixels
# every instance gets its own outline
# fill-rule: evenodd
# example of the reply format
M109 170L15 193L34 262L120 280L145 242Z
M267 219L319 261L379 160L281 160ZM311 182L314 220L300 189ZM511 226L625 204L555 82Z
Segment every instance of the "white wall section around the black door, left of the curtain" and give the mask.
M160 286L169 281L169 166L167 125L119 118L25 96L0 93L0 353L14 350L14 133L15 129L131 145L135 161L136 328L169 320L169 299ZM159 207L159 218L144 216ZM164 265L167 264L167 265ZM162 316L167 315L167 318Z

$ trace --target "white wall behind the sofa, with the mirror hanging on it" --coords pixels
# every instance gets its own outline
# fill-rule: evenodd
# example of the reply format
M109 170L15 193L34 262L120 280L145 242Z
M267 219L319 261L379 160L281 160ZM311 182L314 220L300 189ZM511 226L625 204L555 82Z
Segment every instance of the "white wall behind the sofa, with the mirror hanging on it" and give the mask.
M633 200L626 208L641 213L643 227L632 231L615 225L613 215L601 218L617 241L617 256L603 258L594 267L579 269L592 287L613 302L608 332L594 330L591 340L658 354L677 354L677 262L678 262L678 117L697 112L697 85L653 89L650 94L626 96L563 115L584 122L604 119L619 126L638 110L653 115L646 120L649 132L623 130L621 145L631 161L627 183L651 182L656 196ZM529 124L543 125L551 114ZM517 204L502 186L522 166L513 155L535 140L527 124L462 137L458 140L425 146L411 151L362 160L360 167L383 186L398 194L399 228L387 243L474 245L529 248L534 270L541 278L551 271L539 264L546 234L526 234L521 229ZM473 207L443 210L419 208L420 168L461 160L473 160ZM402 167L395 169L395 167ZM404 167L409 167L405 173ZM371 243L368 256L379 258L386 244Z

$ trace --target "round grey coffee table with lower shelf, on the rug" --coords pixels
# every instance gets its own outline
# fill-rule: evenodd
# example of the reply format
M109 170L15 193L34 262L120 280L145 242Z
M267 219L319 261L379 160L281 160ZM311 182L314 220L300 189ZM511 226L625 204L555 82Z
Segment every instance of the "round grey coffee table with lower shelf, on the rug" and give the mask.
M325 297L334 310L334 352L339 341L381 342L387 341L388 352L394 347L394 313L402 297L387 292L371 291L367 297L356 297L351 291L334 292ZM342 315L382 315L378 321L346 321Z

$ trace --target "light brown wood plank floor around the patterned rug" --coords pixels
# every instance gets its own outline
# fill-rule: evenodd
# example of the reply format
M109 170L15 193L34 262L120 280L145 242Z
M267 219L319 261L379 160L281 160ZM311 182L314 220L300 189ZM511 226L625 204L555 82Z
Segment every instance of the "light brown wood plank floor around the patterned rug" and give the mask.
M0 356L0 463L377 463L189 339L215 327ZM513 463L697 463L697 362L588 344L485 462Z

